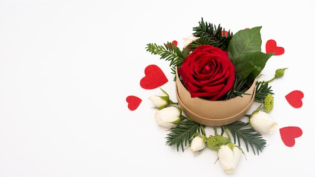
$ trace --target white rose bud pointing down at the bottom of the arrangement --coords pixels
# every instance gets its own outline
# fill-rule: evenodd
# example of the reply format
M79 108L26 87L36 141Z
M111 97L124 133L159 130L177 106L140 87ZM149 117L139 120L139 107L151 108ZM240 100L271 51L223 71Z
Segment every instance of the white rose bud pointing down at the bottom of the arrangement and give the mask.
M241 150L235 144L228 143L219 147L218 157L224 171L233 173L239 163Z

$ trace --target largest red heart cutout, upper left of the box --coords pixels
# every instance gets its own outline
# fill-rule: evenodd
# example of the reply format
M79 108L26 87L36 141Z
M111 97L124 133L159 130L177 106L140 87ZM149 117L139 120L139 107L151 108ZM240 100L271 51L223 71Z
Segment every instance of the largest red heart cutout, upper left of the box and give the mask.
M140 86L144 89L153 89L168 82L168 78L159 66L154 64L146 66L145 76L140 80Z

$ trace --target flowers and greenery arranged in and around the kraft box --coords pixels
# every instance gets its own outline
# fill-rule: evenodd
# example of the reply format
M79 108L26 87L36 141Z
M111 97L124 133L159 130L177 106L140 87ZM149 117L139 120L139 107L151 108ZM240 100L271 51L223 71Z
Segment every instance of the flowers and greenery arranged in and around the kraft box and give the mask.
M245 155L241 141L248 152L250 148L255 155L263 151L266 147L263 134L271 133L277 126L269 114L274 104L269 83L282 77L287 68L277 69L268 81L258 81L266 62L275 54L261 51L261 28L244 29L233 35L220 25L216 27L201 19L199 26L193 28L193 35L186 38L190 51L171 42L147 44L146 51L170 61L172 73L176 74L174 80L183 83L191 98L227 101L248 95L246 91L255 84L253 97L259 106L244 115L248 121L213 126L214 135L206 135L207 125L187 116L160 87L161 93L149 100L156 109L156 123L170 131L166 137L168 145L176 145L177 151L190 147L197 154L206 147L215 150L226 173L234 172L241 154Z

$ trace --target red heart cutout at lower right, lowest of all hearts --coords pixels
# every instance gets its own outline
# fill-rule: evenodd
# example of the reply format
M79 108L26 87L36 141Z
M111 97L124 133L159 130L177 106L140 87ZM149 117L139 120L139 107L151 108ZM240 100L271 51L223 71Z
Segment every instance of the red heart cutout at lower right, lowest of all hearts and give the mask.
M295 144L295 138L302 135L302 129L299 127L283 127L280 130L280 136L286 146L292 147Z

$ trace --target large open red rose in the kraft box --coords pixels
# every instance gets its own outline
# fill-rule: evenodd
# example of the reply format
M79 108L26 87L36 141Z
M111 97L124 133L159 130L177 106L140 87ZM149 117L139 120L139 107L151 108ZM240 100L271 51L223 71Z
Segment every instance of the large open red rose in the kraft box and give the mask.
M211 45L200 45L178 69L192 98L219 100L234 84L234 65L227 52Z

